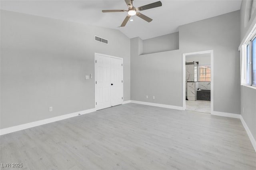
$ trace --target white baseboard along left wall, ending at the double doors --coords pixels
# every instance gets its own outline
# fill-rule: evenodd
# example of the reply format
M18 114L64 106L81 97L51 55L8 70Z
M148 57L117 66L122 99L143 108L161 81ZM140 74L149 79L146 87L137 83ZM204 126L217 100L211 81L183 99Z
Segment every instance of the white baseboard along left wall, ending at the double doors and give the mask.
M79 114L84 115L86 113L92 113L94 111L96 111L95 108L84 110L84 111L79 111L79 112L75 112L75 113L70 113L70 114L66 114L66 115L61 115L61 116L57 116L57 117L52 117L52 118L49 118L49 119L43 119L43 120L40 120L40 121L30 122L30 123L26 123L26 124L22 124L22 125L17 125L17 126L14 126L14 127L2 128L2 129L0 129L0 135L16 132L16 131L19 131L19 130L24 130L26 128L37 127L37 126L40 126L40 125L45 125L45 124L56 122L56 121L61 121L63 119L68 119L68 118L71 118L71 117L79 116Z

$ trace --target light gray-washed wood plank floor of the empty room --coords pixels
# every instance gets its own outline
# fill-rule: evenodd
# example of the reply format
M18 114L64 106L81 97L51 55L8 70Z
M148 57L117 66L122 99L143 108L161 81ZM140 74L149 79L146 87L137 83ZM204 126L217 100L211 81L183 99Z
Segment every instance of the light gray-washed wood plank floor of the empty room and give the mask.
M0 142L0 162L27 170L256 170L239 119L134 103L5 134Z

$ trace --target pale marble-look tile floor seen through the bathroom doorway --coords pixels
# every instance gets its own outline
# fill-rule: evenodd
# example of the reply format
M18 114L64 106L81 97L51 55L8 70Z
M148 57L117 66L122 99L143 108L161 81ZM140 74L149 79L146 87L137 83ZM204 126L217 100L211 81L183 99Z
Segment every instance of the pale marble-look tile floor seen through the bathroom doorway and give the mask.
M211 113L211 101L204 101L204 100L187 101L186 100L186 110L203 112L203 113Z

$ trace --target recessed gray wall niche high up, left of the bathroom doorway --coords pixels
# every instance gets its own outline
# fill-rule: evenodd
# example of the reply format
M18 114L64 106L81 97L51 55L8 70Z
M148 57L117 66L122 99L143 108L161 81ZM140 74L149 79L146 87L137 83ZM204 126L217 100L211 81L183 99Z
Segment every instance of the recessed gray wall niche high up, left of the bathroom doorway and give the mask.
M143 54L179 49L179 32L150 38L142 41Z

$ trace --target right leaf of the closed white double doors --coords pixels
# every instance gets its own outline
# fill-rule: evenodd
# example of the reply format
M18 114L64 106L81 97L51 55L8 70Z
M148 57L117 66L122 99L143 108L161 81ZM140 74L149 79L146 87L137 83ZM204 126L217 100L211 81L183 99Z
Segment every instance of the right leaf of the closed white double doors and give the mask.
M123 103L122 59L111 58L111 106Z

